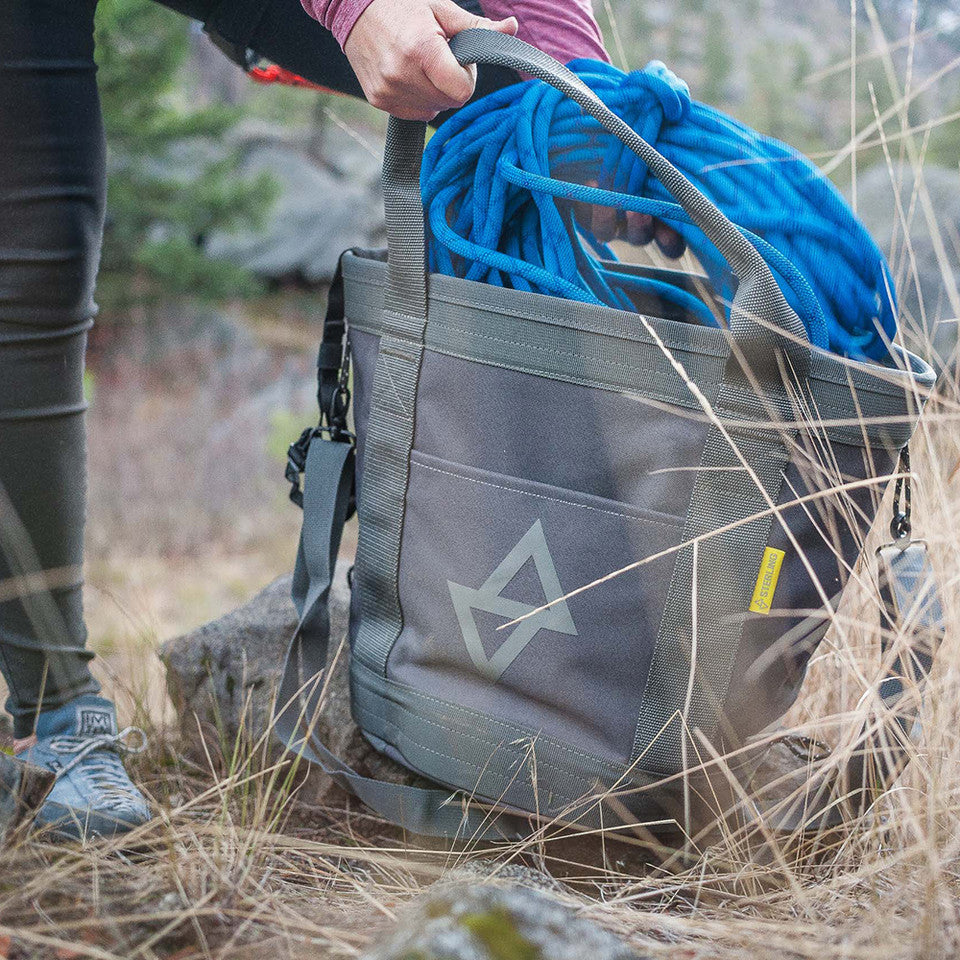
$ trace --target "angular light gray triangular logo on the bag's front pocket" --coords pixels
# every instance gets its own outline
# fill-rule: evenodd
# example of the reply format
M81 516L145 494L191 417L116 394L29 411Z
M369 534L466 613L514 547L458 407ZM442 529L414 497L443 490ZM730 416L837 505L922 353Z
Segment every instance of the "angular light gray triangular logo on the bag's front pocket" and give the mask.
M533 560L540 585L543 587L542 601L527 605L516 600L502 597L500 594L520 569L528 561ZM467 645L470 659L477 669L487 679L499 680L503 671L513 663L523 652L527 644L541 631L552 630L554 633L565 633L575 637L577 628L573 625L573 618L567 607L566 600L561 600L547 610L541 610L535 616L518 623L507 634L506 639L497 648L493 656L488 657L480 642L480 631L474 618L474 610L492 613L507 620L516 620L537 607L543 606L552 600L559 600L563 596L560 579L557 577L557 568L553 557L547 548L547 541L543 535L543 527L538 520L520 539L520 542L507 554L486 582L479 590L464 587L462 584L447 581L450 588L450 599L460 622L463 639Z

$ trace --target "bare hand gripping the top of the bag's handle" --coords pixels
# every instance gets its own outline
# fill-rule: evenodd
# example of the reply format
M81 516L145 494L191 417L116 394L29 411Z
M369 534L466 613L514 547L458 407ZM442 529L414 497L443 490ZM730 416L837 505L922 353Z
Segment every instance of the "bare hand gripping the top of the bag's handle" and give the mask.
M477 68L461 67L447 42L470 27L513 35L517 21L487 20L453 0L373 0L343 52L373 106L404 120L432 120L473 95Z

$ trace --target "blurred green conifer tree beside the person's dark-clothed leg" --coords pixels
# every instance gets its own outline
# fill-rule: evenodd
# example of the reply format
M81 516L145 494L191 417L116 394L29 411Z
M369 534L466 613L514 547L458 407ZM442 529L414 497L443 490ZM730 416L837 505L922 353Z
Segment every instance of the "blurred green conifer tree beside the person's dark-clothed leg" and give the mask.
M214 229L260 222L275 189L268 176L237 173L225 136L240 111L189 102L178 77L187 21L151 0L104 0L96 41L108 148L102 318L161 297L252 292L256 281L206 257L202 241Z

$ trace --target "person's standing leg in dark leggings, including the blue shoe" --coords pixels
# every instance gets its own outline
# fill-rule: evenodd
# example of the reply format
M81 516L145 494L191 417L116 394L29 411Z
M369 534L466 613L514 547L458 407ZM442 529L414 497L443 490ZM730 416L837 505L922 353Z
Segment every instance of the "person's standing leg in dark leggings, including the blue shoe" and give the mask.
M95 5L4 0L0 17L0 669L18 755L56 774L37 820L72 837L150 817L120 760L131 732L90 674L81 597L105 195Z

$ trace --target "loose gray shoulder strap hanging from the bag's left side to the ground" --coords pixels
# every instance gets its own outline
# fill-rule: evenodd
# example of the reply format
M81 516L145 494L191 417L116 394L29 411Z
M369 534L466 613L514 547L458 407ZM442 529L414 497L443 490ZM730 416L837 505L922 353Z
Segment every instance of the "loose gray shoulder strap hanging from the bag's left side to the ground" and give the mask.
M413 833L474 840L522 836L529 831L523 818L491 817L488 811L466 805L454 791L363 777L314 733L330 646L330 587L353 484L353 445L315 439L307 455L303 530L293 580L300 622L287 649L274 733L288 749L316 764L371 810Z

